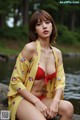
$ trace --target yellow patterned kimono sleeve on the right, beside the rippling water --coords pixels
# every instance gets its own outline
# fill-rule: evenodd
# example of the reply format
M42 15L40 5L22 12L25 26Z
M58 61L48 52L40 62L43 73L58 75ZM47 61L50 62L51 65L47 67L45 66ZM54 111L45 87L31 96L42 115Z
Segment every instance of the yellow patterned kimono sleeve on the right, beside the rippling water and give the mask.
M57 67L55 89L62 88L62 90L64 90L64 87L65 87L65 73L64 73L63 63L62 63Z

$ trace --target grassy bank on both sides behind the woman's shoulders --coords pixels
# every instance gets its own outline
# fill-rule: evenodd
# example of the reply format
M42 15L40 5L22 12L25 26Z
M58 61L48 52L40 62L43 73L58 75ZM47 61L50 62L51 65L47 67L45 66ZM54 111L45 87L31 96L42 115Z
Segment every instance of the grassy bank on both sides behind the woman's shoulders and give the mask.
M24 45L27 43L26 41L22 40L0 40L0 53L6 55L17 55ZM56 45L63 53L80 53L80 44L79 45Z

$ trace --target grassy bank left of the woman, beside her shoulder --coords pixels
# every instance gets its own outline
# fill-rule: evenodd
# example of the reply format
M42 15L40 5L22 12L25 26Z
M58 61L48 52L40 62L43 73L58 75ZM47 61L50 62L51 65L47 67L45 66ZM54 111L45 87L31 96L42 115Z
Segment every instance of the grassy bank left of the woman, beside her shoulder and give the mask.
M21 40L0 40L0 53L5 55L17 55L25 44L26 42Z

